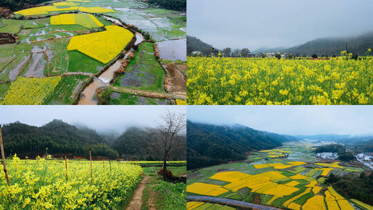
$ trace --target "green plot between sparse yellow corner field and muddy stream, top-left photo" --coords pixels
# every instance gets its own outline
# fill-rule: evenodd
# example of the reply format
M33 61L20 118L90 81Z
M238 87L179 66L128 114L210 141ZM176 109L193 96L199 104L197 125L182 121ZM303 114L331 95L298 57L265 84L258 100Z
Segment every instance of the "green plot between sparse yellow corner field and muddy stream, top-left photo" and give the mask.
M79 96L79 90L88 81L86 75L70 75L61 77L54 92L44 101L44 104L73 104Z

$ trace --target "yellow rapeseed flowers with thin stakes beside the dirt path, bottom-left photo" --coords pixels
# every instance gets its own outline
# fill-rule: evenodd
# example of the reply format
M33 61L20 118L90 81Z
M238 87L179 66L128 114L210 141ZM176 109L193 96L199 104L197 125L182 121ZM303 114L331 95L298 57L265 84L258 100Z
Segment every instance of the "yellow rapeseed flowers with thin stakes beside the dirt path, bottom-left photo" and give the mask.
M0 178L0 209L117 209L141 180L142 168L122 162L7 160L10 187ZM2 165L0 166L2 170Z

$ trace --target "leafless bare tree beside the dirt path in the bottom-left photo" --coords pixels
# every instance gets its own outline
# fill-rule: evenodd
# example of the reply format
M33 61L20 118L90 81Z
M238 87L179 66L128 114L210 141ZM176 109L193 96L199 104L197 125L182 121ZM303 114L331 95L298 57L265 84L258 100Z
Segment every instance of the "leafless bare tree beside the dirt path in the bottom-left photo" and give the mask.
M184 114L166 111L162 122L153 129L153 136L157 147L160 148L163 160L163 180L166 180L167 163L171 151L185 144L184 138L187 128L187 119Z

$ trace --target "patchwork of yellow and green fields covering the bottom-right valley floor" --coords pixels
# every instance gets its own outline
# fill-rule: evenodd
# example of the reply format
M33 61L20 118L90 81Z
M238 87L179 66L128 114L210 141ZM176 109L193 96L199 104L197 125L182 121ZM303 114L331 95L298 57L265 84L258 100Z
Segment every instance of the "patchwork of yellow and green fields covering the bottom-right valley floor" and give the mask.
M308 142L299 146L287 144L280 149L255 152L249 155L247 162L190 172L187 195L209 195L294 210L372 209L369 204L344 198L325 182L332 173L358 176L364 169L353 164L308 158L314 149L312 146ZM210 206L189 202L187 209Z

